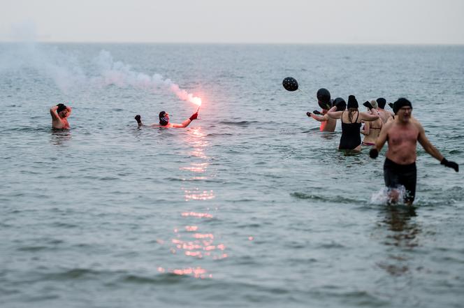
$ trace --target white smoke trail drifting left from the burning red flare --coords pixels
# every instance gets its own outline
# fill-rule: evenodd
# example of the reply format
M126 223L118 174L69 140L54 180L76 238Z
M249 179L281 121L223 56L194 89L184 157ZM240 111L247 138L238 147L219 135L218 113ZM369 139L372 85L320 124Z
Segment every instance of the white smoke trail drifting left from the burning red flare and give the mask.
M92 61L91 71L85 73L72 54L61 52L57 47L38 47L36 44L17 45L17 48L1 54L0 73L22 68L34 68L39 74L51 78L64 93L82 91L89 87L133 87L146 91L162 88L173 92L182 101L201 105L201 98L180 89L170 79L155 73L150 76L134 71L122 61L114 61L110 52L102 50Z

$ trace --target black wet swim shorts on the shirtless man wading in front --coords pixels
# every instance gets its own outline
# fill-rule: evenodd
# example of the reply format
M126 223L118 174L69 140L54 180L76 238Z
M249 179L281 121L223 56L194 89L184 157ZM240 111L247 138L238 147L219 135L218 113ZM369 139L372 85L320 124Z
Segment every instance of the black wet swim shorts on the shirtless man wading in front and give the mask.
M390 159L385 159L384 163L384 180L385 186L389 188L398 188L403 185L406 189L405 202L412 203L416 195L417 170L416 163L409 165L399 165Z

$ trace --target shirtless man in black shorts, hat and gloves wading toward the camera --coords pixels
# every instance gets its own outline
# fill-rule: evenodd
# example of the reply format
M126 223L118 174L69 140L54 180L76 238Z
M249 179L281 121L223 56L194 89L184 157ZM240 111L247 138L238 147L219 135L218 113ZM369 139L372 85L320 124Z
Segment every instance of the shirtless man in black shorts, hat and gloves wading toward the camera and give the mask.
M442 165L459 171L454 161L447 161L442 154L428 141L419 121L412 119L412 104L406 98L399 98L393 105L395 119L384 124L375 146L369 152L372 159L388 141L384 163L385 186L389 188L391 203L398 202L398 187L405 186L407 191L404 202L412 205L416 193L416 144L417 141L428 154L438 159Z

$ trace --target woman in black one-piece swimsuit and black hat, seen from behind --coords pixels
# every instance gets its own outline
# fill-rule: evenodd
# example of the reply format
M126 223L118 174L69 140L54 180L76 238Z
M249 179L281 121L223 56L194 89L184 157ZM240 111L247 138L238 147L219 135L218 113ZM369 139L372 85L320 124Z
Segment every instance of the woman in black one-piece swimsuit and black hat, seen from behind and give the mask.
M368 106L372 108L370 103L366 104L366 107ZM358 107L356 97L350 95L348 96L347 110L335 111L337 106L334 106L327 112L329 117L342 120L342 138L340 138L338 149L361 152L361 121L373 121L379 118L377 112L375 115L369 115L366 112L359 112Z

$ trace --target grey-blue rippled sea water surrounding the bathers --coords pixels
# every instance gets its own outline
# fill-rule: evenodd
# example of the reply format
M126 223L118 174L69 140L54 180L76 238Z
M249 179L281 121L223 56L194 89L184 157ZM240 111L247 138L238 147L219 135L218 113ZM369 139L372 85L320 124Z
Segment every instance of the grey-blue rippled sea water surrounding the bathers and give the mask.
M138 73L199 119L137 129L196 109ZM461 173L419 147L415 207L386 206L384 151L344 156L305 112L319 87L405 96L463 163L463 76L463 46L0 45L0 305L462 307Z

